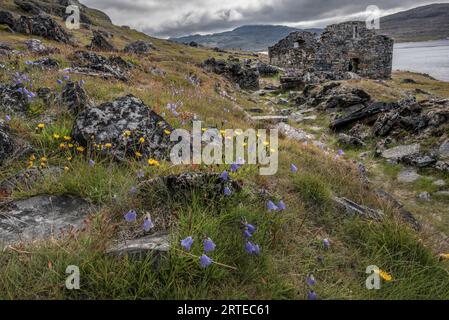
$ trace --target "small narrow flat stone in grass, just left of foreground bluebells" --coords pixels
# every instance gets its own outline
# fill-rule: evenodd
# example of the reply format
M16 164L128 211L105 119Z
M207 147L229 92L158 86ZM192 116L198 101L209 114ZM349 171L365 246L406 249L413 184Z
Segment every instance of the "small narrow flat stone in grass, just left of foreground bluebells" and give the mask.
M168 234L154 234L143 238L126 240L109 247L106 253L123 256L125 254L146 254L149 252L168 252L170 242Z

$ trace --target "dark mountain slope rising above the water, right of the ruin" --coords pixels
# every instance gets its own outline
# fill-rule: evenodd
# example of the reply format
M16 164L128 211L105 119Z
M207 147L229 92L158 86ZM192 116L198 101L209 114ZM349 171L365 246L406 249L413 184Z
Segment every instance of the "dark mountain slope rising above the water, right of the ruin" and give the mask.
M380 20L381 32L396 42L449 38L449 4L431 4L399 12Z

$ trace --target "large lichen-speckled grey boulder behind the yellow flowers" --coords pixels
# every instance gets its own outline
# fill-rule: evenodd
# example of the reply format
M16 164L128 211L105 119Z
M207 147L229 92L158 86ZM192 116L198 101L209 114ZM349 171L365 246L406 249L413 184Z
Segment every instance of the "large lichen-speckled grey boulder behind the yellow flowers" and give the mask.
M110 143L106 152L117 160L135 157L136 152L142 157L162 160L170 155L172 130L140 99L127 95L80 112L72 136L86 147Z

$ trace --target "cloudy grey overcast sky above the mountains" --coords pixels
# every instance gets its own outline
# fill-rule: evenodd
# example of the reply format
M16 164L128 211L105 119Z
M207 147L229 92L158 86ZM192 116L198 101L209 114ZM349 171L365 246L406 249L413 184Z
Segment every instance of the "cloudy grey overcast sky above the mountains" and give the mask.
M118 25L166 38L230 30L248 24L323 27L364 17L369 5L382 14L429 4L419 0L80 0Z

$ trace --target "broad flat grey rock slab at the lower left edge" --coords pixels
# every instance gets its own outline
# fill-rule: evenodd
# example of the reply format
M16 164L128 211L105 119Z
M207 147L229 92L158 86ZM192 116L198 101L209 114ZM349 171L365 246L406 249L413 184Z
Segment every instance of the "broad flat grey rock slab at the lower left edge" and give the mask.
M40 195L0 205L0 246L80 230L93 207L72 196Z

